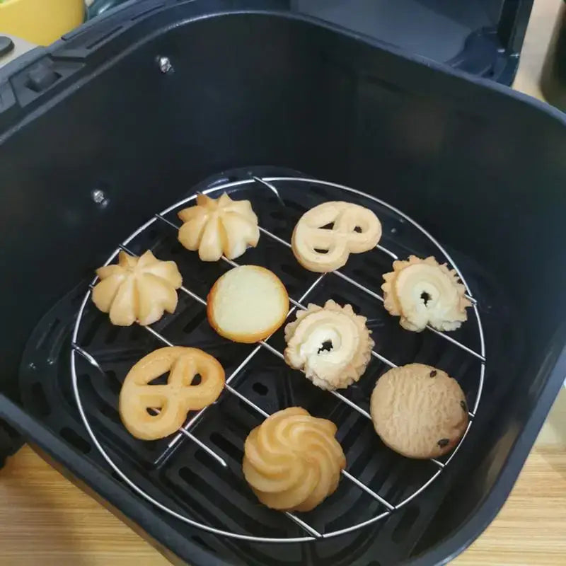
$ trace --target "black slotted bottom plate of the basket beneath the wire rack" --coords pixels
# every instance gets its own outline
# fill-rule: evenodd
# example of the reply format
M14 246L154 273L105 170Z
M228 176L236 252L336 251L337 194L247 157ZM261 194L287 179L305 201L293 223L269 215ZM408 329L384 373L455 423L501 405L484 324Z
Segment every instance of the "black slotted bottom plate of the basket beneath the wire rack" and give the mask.
M254 173L265 176L261 170L254 170ZM270 170L267 174L277 176L278 173ZM283 174L288 175L287 171ZM246 172L238 171L236 178L231 181L237 182L238 175L249 179ZM227 187L227 190L235 192L238 199L251 200L260 225L284 241L289 241L294 224L308 208L325 200L348 200L374 209L383 224L381 244L393 254L400 258L415 253L443 259L439 248L422 231L371 199L316 182L273 181L272 185L279 190L284 207L262 183L246 183ZM214 183L207 182L196 189L205 190L210 186L214 186ZM212 195L216 196L216 192L212 192ZM179 224L176 210L165 214L163 218ZM127 248L137 254L151 248L158 258L175 260L183 274L184 287L200 297L206 297L216 278L231 267L225 262L200 262L197 254L187 252L178 244L175 230L162 219L141 231L127 243ZM382 250L373 250L350 256L347 266L341 271L346 277L355 279L377 294L380 292L381 274L391 270L391 261L391 255ZM238 262L264 265L275 272L293 299L299 299L319 277L303 270L287 246L265 233L260 238L258 248L248 250L238 258ZM487 351L499 347L512 352L518 342L510 331L513 326L512 311L504 301L504 296L499 294L490 277L473 262L458 257L457 263L478 300L478 311L486 336L489 337ZM86 434L76 410L69 376L72 324L86 289L88 286L81 284L47 313L37 326L22 366L22 398L30 412L57 430L87 458L105 466L109 473L119 478L119 474L108 468L105 458L95 449L93 438ZM418 361L446 369L461 383L470 410L475 412L478 408L480 377L483 376L483 360L478 355L430 331L420 334L406 332L399 327L398 319L386 313L375 296L335 274L320 279L303 302L323 304L327 299L335 299L340 304L350 303L355 311L368 317L378 354L394 364ZM241 367L256 348L254 345L236 345L216 335L207 323L202 304L187 294L180 294L175 314L165 316L153 328L158 336L165 337L169 342L199 347L214 355L224 366L226 376L231 376ZM503 329L509 331L504 333ZM477 354L482 348L478 330L478 319L470 311L468 322L451 336ZM312 532L305 531L289 517L258 504L243 480L243 441L250 429L263 418L248 403L226 391L219 402L209 408L195 427L190 429L198 441L224 460L226 467L187 437L181 437L173 446L168 446L172 438L154 442L138 441L125 431L117 413L120 385L137 359L161 347L163 343L156 335L138 326L112 327L107 316L93 308L90 300L86 302L76 342L84 352L96 359L103 371L101 374L86 359L75 356L79 397L94 439L100 443L117 470L146 496L156 499L168 512L220 531L259 539L312 538ZM268 343L282 352L282 330ZM508 364L506 367L509 369ZM373 358L359 383L343 391L343 395L362 412L367 411L369 395L376 379L387 369L385 363ZM486 391L480 412L484 410L486 394L489 405L501 394L497 391L497 383L490 383L491 371L494 368L490 362L490 371L485 374ZM463 453L473 449L475 423L458 454L444 468L442 464L452 456L436 463L410 461L398 456L383 446L374 433L371 421L359 411L315 388L302 374L289 369L279 357L264 347L258 348L230 385L266 413L300 405L313 415L333 420L338 426L337 437L347 456L348 472L368 486L379 499L398 508L390 512L379 499L342 478L340 487L332 497L313 512L301 514L300 519L324 535L350 529L377 516L381 516L381 520L357 532L317 541L314 546L285 545L284 550L280 545L258 545L199 533L192 526L171 517L175 528L182 529L195 543L214 549L214 553L230 561L238 562L246 557L246 563L304 564L320 561L328 564L330 561L340 564L341 560L352 563L352 558L359 556L362 560L360 563L370 564L371 549L375 550L378 544L384 556L405 556L410 553L446 496L461 466L458 460L463 458ZM428 489L412 499L425 486ZM340 558L346 549L349 549L348 553Z

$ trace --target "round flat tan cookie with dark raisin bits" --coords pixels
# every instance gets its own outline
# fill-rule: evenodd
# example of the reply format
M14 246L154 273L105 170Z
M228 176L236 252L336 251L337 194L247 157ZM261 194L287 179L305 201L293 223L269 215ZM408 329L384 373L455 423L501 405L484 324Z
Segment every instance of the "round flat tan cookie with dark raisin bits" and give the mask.
M468 405L456 379L424 364L383 374L371 393L370 412L383 443L408 458L446 454L468 427Z

